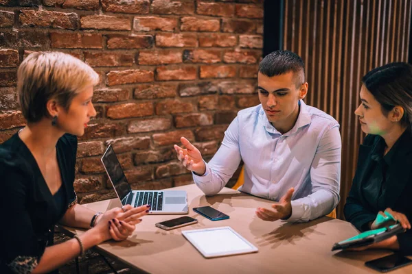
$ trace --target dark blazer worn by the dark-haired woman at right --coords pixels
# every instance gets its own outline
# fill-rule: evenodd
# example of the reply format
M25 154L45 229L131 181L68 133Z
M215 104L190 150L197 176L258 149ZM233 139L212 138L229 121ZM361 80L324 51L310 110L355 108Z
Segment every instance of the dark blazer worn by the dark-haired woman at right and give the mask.
M381 137L367 135L363 145L359 147L358 165L352 187L345 203L345 218L361 232L369 230L367 223L374 221L380 210L391 208L405 214L412 222L412 133L407 130L400 136L392 149L393 155L387 168L387 188L384 196L385 208L378 209L363 198L363 182L367 182L371 174L374 153ZM412 254L412 229L398 234L400 251Z

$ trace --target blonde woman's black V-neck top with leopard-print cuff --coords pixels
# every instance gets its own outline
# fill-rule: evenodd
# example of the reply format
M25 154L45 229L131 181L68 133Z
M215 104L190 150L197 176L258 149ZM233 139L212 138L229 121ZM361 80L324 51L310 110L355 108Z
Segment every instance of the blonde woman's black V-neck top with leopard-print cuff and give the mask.
M54 225L77 201L73 189L76 151L76 136L65 134L58 140L62 203L67 205L58 208L36 160L18 134L0 145L0 273L30 271L43 256Z

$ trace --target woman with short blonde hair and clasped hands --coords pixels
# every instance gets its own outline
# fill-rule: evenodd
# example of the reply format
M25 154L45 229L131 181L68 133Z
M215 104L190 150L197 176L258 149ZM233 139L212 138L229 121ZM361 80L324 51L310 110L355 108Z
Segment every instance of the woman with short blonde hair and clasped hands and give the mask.
M148 206L101 213L77 203L76 136L96 114L99 77L90 66L65 53L32 53L17 79L27 125L0 145L0 273L45 273L100 242L128 238ZM52 245L56 223L90 229Z

